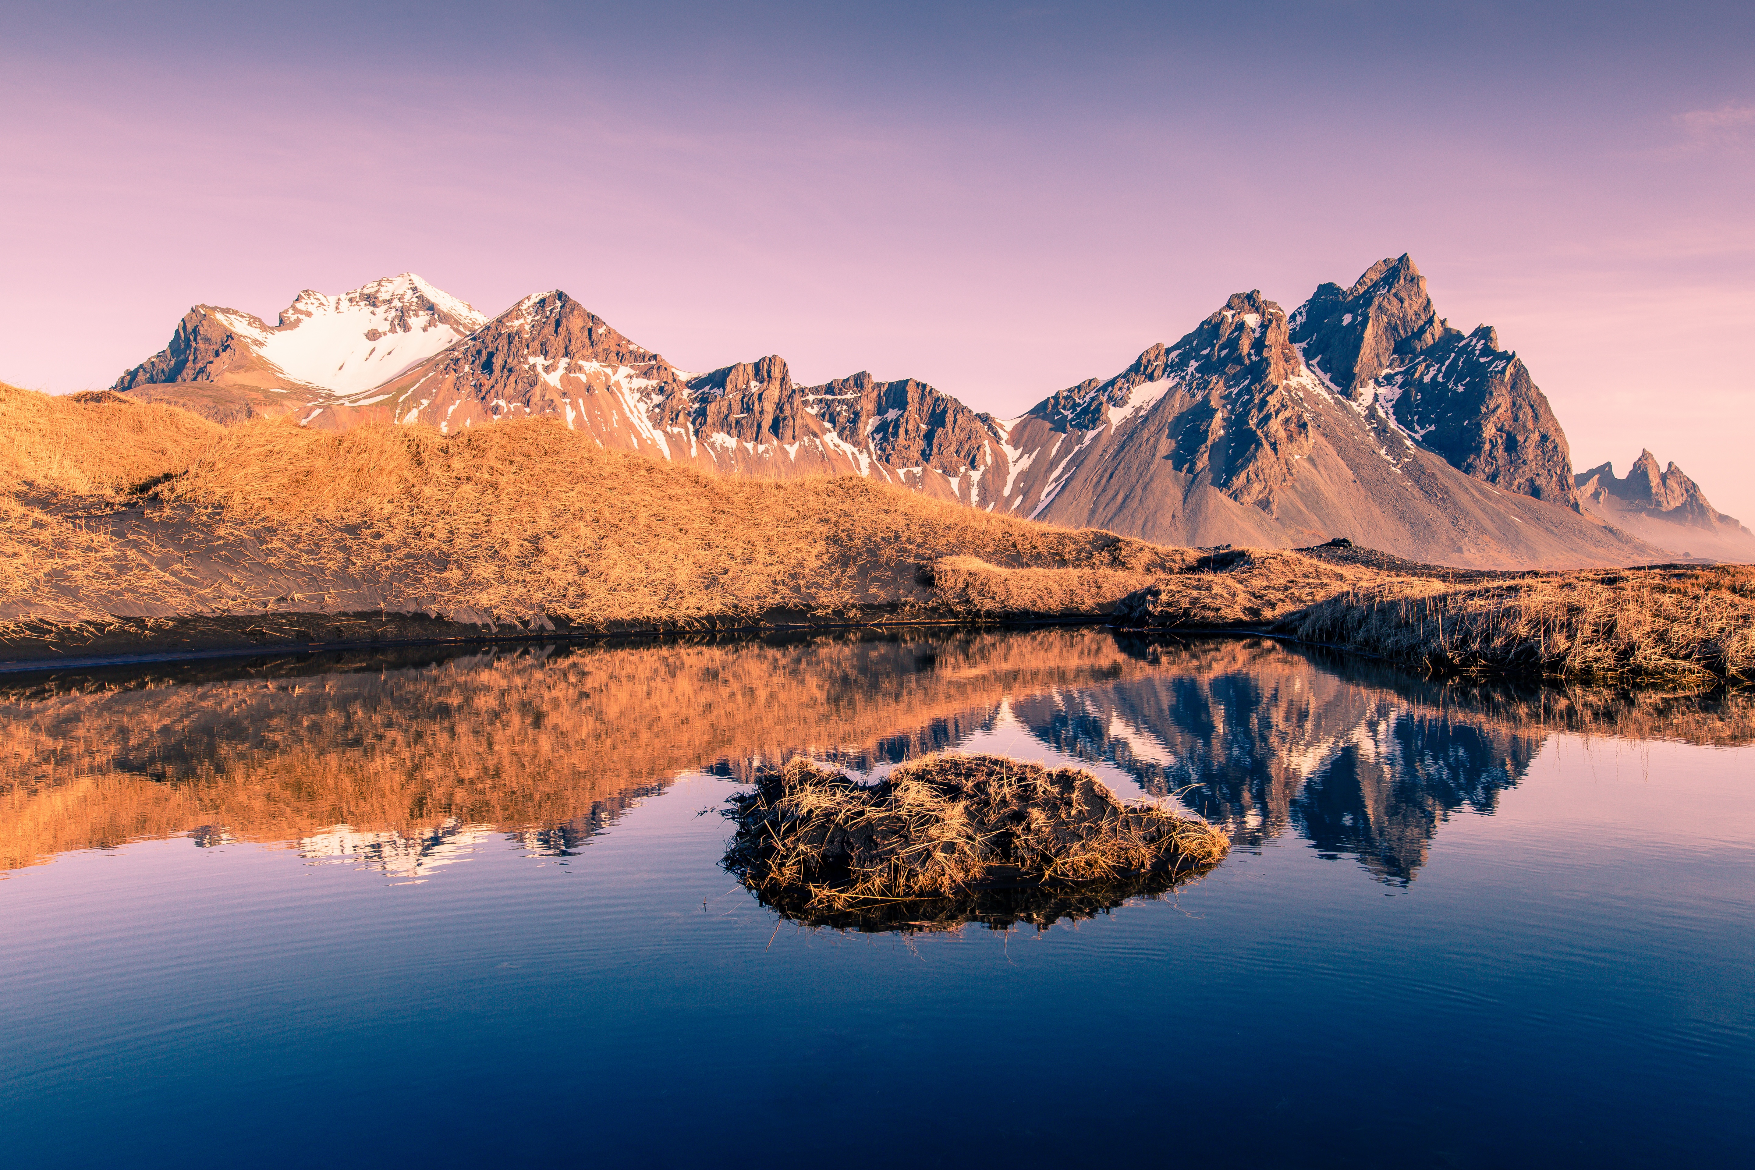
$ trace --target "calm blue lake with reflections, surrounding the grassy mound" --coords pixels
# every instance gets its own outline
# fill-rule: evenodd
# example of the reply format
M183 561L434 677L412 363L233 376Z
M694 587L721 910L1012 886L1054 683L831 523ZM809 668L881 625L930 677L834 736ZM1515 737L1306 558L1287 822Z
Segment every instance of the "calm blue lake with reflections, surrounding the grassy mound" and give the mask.
M1102 630L0 677L0 1163L1743 1163L1751 742ZM1046 931L720 868L762 763L937 749L1232 853Z

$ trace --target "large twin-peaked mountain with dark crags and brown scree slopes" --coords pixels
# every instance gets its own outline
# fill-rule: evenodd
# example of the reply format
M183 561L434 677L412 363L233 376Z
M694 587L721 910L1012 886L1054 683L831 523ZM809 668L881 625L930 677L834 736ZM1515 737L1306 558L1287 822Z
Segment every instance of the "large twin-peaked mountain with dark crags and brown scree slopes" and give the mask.
M1436 316L1408 256L1323 284L1292 314L1234 295L1007 435L1007 507L1167 544L1346 535L1478 567L1655 553L1576 510L1546 398L1492 330L1464 337Z

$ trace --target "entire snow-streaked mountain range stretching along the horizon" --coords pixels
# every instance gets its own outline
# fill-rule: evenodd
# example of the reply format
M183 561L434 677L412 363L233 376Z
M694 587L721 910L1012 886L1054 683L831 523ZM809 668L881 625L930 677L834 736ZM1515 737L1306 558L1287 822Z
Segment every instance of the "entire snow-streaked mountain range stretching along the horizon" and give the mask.
M914 379L799 386L772 354L677 370L567 293L488 317L412 274L307 289L276 325L197 305L114 389L223 423L293 414L332 430L556 416L702 470L858 474L1178 546L1348 537L1464 567L1755 560L1755 537L1674 465L1574 475L1523 361L1490 326L1439 317L1408 256L1290 314L1237 293L1120 374L1011 419Z

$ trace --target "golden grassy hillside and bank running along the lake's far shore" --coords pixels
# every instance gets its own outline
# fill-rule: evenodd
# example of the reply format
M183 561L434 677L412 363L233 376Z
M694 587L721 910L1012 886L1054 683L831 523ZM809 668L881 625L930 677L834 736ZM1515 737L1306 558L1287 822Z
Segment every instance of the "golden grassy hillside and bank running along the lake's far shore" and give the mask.
M195 619L209 644L302 644L412 637L367 621L407 614L460 623L453 637L1118 616L1271 628L1444 672L1755 679L1746 568L1202 556L858 477L704 475L605 451L553 417L451 437L332 433L84 398L0 388L7 656L81 653L102 630L119 630L91 644L104 651L188 649ZM355 624L319 631L298 616Z

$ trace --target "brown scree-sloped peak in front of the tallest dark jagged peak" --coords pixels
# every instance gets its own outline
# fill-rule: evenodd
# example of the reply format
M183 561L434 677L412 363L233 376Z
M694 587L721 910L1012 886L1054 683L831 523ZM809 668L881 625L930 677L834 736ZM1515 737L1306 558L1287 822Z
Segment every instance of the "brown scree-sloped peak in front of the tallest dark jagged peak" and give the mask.
M1004 507L1185 546L1299 547L1344 535L1464 567L1658 560L1571 507L1502 491L1418 444L1376 400L1322 379L1260 293L1171 349L1007 426Z

